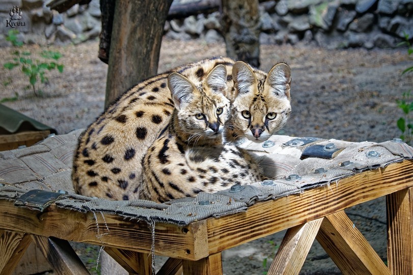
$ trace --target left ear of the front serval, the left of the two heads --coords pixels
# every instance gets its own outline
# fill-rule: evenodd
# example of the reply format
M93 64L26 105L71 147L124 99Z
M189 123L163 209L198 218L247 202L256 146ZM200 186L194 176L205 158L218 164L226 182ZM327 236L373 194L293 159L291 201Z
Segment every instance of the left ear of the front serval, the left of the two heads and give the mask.
M194 91L197 89L188 78L177 72L168 76L168 88L171 91L175 108L178 110L192 100Z

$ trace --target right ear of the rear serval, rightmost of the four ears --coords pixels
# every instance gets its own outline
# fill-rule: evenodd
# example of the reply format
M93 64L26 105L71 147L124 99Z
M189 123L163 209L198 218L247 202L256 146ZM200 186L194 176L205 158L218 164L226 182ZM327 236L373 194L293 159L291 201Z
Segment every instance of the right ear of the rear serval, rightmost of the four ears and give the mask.
M265 79L265 85L269 85L269 91L274 95L287 96L290 99L291 70L285 63L279 63L271 68Z

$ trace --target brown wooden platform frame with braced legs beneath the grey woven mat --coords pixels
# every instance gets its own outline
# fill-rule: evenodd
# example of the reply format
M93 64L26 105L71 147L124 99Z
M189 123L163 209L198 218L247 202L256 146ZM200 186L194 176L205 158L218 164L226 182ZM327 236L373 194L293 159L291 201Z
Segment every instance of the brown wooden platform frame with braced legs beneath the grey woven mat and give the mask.
M179 227L156 223L154 252L170 259L158 274L222 274L224 250L288 229L268 274L297 274L316 238L343 274L413 274L413 161L365 171L338 184L256 203L246 212ZM386 196L388 266L344 209ZM0 200L0 274L9 274L30 243L59 274L87 274L68 240L104 245L128 272L152 274L152 228L114 214L51 204L39 212Z

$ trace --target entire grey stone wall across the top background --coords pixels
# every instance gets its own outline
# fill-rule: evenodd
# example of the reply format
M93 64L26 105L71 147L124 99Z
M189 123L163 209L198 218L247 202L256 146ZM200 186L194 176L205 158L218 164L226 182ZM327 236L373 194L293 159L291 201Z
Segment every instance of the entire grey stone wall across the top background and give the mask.
M3 0L0 46L9 44L4 35L13 28L26 43L80 43L99 36L98 0L75 5L63 14L50 11L45 3ZM404 34L413 38L413 0L265 1L260 3L260 11L262 44L301 41L327 48L370 49L396 47ZM219 12L173 18L165 25L165 36L180 40L200 38L208 43L223 41L219 19Z

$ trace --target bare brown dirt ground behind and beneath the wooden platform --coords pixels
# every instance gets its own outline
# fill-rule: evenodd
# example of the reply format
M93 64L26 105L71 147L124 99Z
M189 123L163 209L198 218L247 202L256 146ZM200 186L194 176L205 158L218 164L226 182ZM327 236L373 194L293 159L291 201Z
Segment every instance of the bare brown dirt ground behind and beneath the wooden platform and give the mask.
M33 59L44 49L36 45L24 48L32 52ZM12 99L3 104L56 128L61 134L85 128L103 111L107 65L97 58L98 42L49 49L64 54L59 63L65 68L61 74L57 71L47 74L49 83L39 86L42 95L35 97L31 89L25 88L29 80L18 68L8 70L1 66L0 100ZM11 61L12 51L12 48L0 49L0 60ZM219 55L225 55L224 44L164 40L158 71ZM292 70L293 112L283 134L353 142L383 142L400 135L396 122L402 112L396 100L403 92L413 89L413 73L401 75L413 63L406 48L261 47L261 69L268 71L279 61L287 62ZM17 100L13 100L16 93ZM385 209L381 198L346 211L383 261L387 260ZM280 232L225 251L224 273L265 274L282 237L283 232ZM84 249L82 245L78 248L92 270L98 248ZM155 264L161 261L156 258ZM335 273L340 273L339 269L315 243L301 274Z

